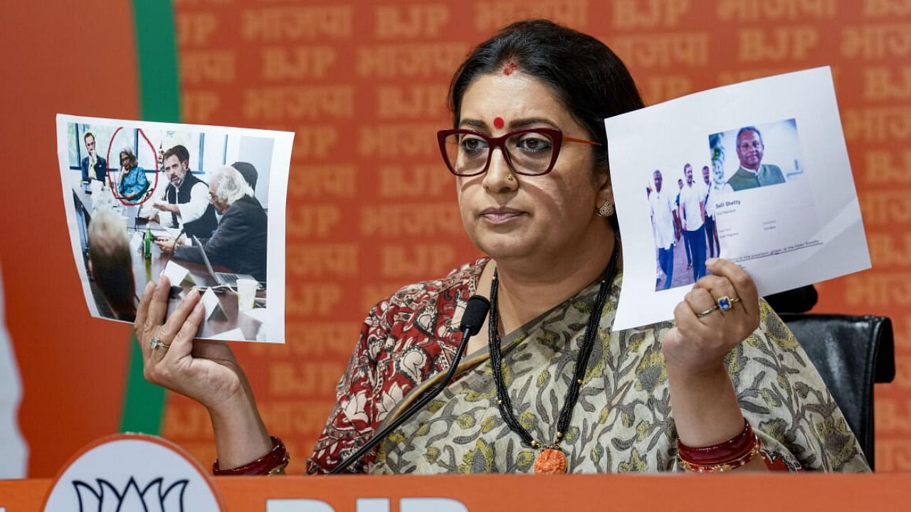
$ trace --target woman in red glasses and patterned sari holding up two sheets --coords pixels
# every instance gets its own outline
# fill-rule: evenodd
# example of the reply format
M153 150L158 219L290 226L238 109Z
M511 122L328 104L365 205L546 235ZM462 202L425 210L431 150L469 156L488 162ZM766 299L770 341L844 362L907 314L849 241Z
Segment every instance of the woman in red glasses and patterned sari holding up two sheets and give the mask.
M610 332L622 261L602 119L642 101L607 46L547 21L508 26L456 71L451 103L440 148L489 259L374 307L308 472L435 384L475 293L493 307L460 378L355 471L867 469L803 350L731 262L710 261L673 323ZM149 380L209 408L217 474L281 472L284 448L230 350L192 343L198 295L161 324L168 286L149 285L137 315Z

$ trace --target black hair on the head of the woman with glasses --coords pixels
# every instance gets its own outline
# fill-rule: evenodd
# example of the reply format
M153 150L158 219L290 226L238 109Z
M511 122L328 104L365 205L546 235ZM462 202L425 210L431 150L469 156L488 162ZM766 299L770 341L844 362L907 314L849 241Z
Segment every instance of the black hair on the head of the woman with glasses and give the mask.
M478 45L455 71L449 87L453 126L458 127L462 97L481 75L507 63L545 83L573 117L588 129L599 169L608 169L604 119L645 106L630 71L598 39L545 19L519 21Z

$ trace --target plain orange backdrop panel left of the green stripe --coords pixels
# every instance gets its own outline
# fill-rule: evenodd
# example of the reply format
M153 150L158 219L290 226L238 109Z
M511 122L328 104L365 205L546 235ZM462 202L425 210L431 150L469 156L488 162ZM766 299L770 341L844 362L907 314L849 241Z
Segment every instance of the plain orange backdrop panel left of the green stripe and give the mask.
M117 431L128 360L126 328L90 318L79 286L55 116L138 116L133 14L127 2L13 2L0 45L6 324L24 384L28 474L53 476L79 446Z

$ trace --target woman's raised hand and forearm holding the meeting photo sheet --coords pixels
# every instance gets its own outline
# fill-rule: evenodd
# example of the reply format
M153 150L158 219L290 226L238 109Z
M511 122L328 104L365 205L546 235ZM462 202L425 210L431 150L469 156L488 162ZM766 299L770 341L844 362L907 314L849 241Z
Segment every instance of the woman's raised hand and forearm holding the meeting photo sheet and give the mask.
M149 282L136 312L136 338L148 382L189 396L209 409L221 469L242 466L271 449L250 384L227 343L196 340L205 308L191 290L168 312L170 282ZM152 348L152 339L170 345Z

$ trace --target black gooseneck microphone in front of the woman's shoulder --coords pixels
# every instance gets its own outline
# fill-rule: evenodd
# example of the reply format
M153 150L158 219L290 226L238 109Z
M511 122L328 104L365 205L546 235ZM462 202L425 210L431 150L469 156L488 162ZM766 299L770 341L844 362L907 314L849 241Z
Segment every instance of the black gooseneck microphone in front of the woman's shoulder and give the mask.
M437 384L435 388L427 390L420 399L418 399L415 404L413 404L408 410L399 415L394 419L392 423L386 425L383 430L380 430L373 437L370 438L363 446L361 446L356 452L351 456L344 459L338 466L335 466L332 471L329 472L330 475L337 475L342 473L348 466L353 465L357 462L364 454L369 452L375 445L378 445L380 441L384 439L386 435L389 435L392 431L398 428L404 422L408 421L412 416L415 415L418 411L424 408L431 400L435 398L437 394L440 394L449 384L449 381L455 376L455 369L458 367L460 361L462 361L462 353L465 352L465 347L468 344L468 340L478 333L481 330L481 325L484 324L485 319L487 318L487 312L490 311L490 302L486 298L480 295L472 295L468 299L468 304L465 307L465 313L462 315L462 322L459 323L459 331L462 332L462 343L459 343L458 350L455 351L455 357L453 358L452 364L449 365L449 371L446 372L443 382Z

